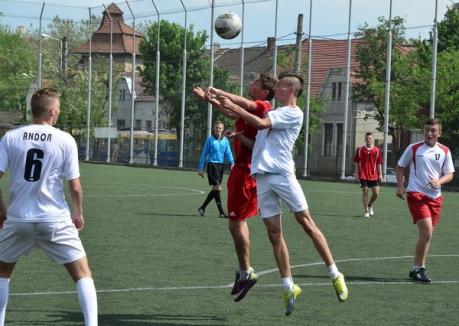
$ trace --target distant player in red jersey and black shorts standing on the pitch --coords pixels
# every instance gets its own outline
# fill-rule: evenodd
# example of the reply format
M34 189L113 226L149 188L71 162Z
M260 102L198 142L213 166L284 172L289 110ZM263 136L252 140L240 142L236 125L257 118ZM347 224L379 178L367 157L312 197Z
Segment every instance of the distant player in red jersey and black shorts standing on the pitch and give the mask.
M357 148L354 156L355 179L360 181L362 188L364 217L373 216L373 203L379 195L379 183L381 181L381 149L374 146L373 134L365 134L365 145ZM368 188L371 188L371 198L368 199Z

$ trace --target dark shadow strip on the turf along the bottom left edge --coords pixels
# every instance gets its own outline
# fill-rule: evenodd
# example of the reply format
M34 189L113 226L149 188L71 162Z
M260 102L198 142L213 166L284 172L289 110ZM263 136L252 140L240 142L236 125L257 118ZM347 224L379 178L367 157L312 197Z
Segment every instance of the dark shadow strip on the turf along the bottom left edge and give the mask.
M9 319L8 313L6 321L8 324L17 325L82 325L83 315L75 311L44 311L44 310L16 310L11 313L21 314L22 316L30 316L39 313L46 314L47 321L32 321L23 318L21 320ZM212 315L172 315L172 314L99 314L100 326L135 326L135 325L164 325L164 326L179 326L179 325L227 325L224 319Z

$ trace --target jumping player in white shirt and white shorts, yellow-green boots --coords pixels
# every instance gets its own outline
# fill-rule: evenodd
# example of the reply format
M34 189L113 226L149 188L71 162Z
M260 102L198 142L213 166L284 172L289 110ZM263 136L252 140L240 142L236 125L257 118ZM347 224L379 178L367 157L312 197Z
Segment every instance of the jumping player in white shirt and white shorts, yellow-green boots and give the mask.
M345 301L348 298L344 277L335 265L327 239L309 213L303 190L295 176L292 150L303 123L303 112L296 105L302 88L303 79L298 75L281 76L275 88L275 99L283 106L269 111L263 119L227 98L221 99L224 107L259 130L253 148L251 174L257 180L260 214L268 231L285 290L286 315L292 313L301 289L292 279L288 248L282 234L281 200L294 213L297 222L311 238L327 265L338 299Z

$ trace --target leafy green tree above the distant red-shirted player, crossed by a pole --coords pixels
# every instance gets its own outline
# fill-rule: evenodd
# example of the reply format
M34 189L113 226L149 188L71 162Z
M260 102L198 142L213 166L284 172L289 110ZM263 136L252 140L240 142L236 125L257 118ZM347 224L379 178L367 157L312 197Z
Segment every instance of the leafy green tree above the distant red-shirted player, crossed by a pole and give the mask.
M389 21L378 18L379 25L359 27L356 37L361 38L356 49L359 68L356 77L361 82L353 85L353 97L372 104L376 108L374 117L380 130L384 125L385 88L386 88L386 47ZM421 104L428 94L428 72L419 62L419 53L413 46L407 45L404 37L405 28L401 17L392 22L392 69L389 112L389 134L393 137L393 155L398 155L401 134L404 130L418 128L422 112ZM372 114L373 112L369 112ZM395 157L394 157L395 158Z

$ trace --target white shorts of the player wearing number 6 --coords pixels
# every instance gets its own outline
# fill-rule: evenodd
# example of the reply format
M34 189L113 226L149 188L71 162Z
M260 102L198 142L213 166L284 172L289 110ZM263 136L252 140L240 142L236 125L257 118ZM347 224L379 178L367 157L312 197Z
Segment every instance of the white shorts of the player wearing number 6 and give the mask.
M41 248L55 263L67 264L86 256L78 230L70 220L18 222L7 219L0 230L0 260L14 263L33 248Z

